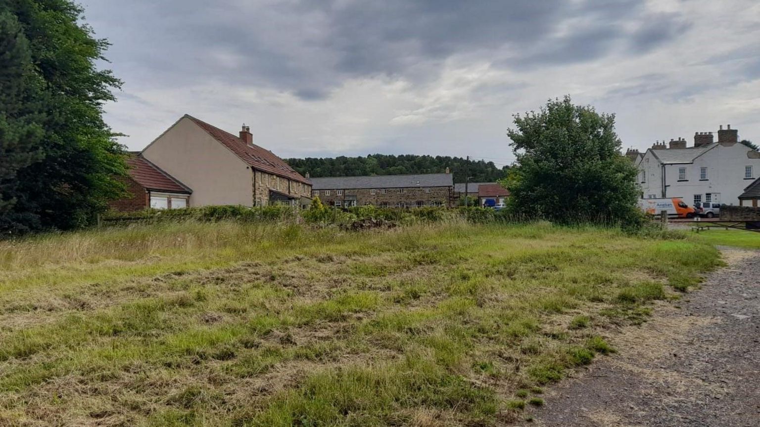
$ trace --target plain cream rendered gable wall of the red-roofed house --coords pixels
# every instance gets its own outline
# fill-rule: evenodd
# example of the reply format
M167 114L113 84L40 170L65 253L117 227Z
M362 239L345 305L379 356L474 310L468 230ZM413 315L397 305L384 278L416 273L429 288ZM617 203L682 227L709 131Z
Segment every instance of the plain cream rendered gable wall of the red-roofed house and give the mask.
M191 119L179 119L142 155L192 189L190 205L253 205L253 175L239 157Z

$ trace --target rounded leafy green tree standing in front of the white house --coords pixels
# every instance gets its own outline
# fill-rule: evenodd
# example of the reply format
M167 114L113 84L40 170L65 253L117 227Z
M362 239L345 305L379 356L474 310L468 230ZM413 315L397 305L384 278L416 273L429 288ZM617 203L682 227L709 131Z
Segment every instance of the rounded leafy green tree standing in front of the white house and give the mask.
M636 169L620 152L615 115L575 106L569 96L539 112L515 115L509 129L518 157L505 187L511 213L559 223L632 223Z

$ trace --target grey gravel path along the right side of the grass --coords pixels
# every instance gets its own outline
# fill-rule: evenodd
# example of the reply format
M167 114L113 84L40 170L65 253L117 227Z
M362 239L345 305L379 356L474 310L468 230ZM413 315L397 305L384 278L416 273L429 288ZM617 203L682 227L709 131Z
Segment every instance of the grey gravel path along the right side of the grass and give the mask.
M553 387L524 425L760 426L760 251L721 249L728 267L612 340L620 353Z

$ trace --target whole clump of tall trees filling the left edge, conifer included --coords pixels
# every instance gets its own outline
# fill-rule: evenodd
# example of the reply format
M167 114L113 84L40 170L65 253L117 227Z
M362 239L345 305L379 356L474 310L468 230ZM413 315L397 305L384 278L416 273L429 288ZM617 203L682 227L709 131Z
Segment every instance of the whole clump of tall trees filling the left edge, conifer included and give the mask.
M121 81L71 0L0 0L0 232L72 229L122 194L103 121Z

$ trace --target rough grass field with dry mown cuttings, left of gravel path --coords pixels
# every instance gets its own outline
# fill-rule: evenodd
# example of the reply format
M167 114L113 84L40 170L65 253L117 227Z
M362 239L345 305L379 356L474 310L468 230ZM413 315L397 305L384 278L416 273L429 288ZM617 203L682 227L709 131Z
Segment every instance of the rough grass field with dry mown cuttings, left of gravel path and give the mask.
M0 425L492 425L719 263L543 223L0 242Z

